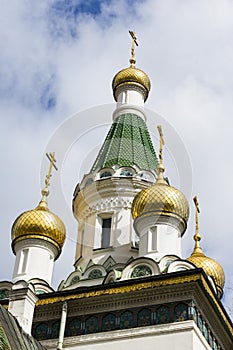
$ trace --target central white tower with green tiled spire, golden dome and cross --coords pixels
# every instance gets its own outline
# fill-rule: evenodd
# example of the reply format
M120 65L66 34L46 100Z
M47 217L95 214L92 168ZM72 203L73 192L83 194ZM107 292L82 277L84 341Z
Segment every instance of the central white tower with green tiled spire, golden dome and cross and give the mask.
M138 191L157 177L158 161L144 111L150 80L135 67L137 41L130 33L130 66L119 71L112 82L117 102L113 124L90 173L74 193L73 212L78 220L75 267L80 272L76 279L81 274L89 279L94 273L104 277L113 265L122 269L138 256L139 238L133 228L131 205Z

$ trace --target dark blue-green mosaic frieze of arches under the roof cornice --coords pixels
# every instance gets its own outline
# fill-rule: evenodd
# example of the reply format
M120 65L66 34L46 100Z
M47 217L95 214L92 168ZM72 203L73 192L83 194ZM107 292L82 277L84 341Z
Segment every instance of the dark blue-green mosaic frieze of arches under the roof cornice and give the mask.
M186 320L193 320L197 324L212 350L221 350L211 329L193 302L150 305L150 308L131 308L72 318L68 316L65 337L183 322ZM32 333L37 340L56 339L59 335L59 329L60 320L53 320L34 324Z

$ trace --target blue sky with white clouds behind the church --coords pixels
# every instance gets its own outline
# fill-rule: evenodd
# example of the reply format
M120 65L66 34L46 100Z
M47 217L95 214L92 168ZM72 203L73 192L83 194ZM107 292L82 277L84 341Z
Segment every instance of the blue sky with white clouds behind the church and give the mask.
M130 29L136 66L152 84L146 107L155 148L159 121L166 175L190 201L183 256L193 249L197 195L201 245L224 268L223 302L233 314L233 2L2 0L0 17L0 280L11 280L11 226L40 200L47 151L59 168L49 208L67 227L53 287L73 271L72 193L111 125L111 82L129 65Z

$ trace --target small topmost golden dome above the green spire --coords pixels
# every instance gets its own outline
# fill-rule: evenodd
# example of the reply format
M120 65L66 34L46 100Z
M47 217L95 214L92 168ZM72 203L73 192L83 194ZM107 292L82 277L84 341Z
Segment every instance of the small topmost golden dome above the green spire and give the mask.
M115 100L117 101L116 90L123 86L136 86L143 89L144 101L146 101L150 92L150 79L141 69L131 64L130 67L120 70L112 81L112 89Z

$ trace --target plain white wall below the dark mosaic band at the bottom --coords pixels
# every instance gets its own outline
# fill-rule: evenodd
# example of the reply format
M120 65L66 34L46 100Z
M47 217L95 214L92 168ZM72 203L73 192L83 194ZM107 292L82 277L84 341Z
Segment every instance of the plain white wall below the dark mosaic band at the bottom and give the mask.
M46 349L56 349L55 341L44 341ZM193 321L140 327L66 338L67 350L210 350ZM227 349L228 350L228 349ZM230 349L229 349L230 350Z

